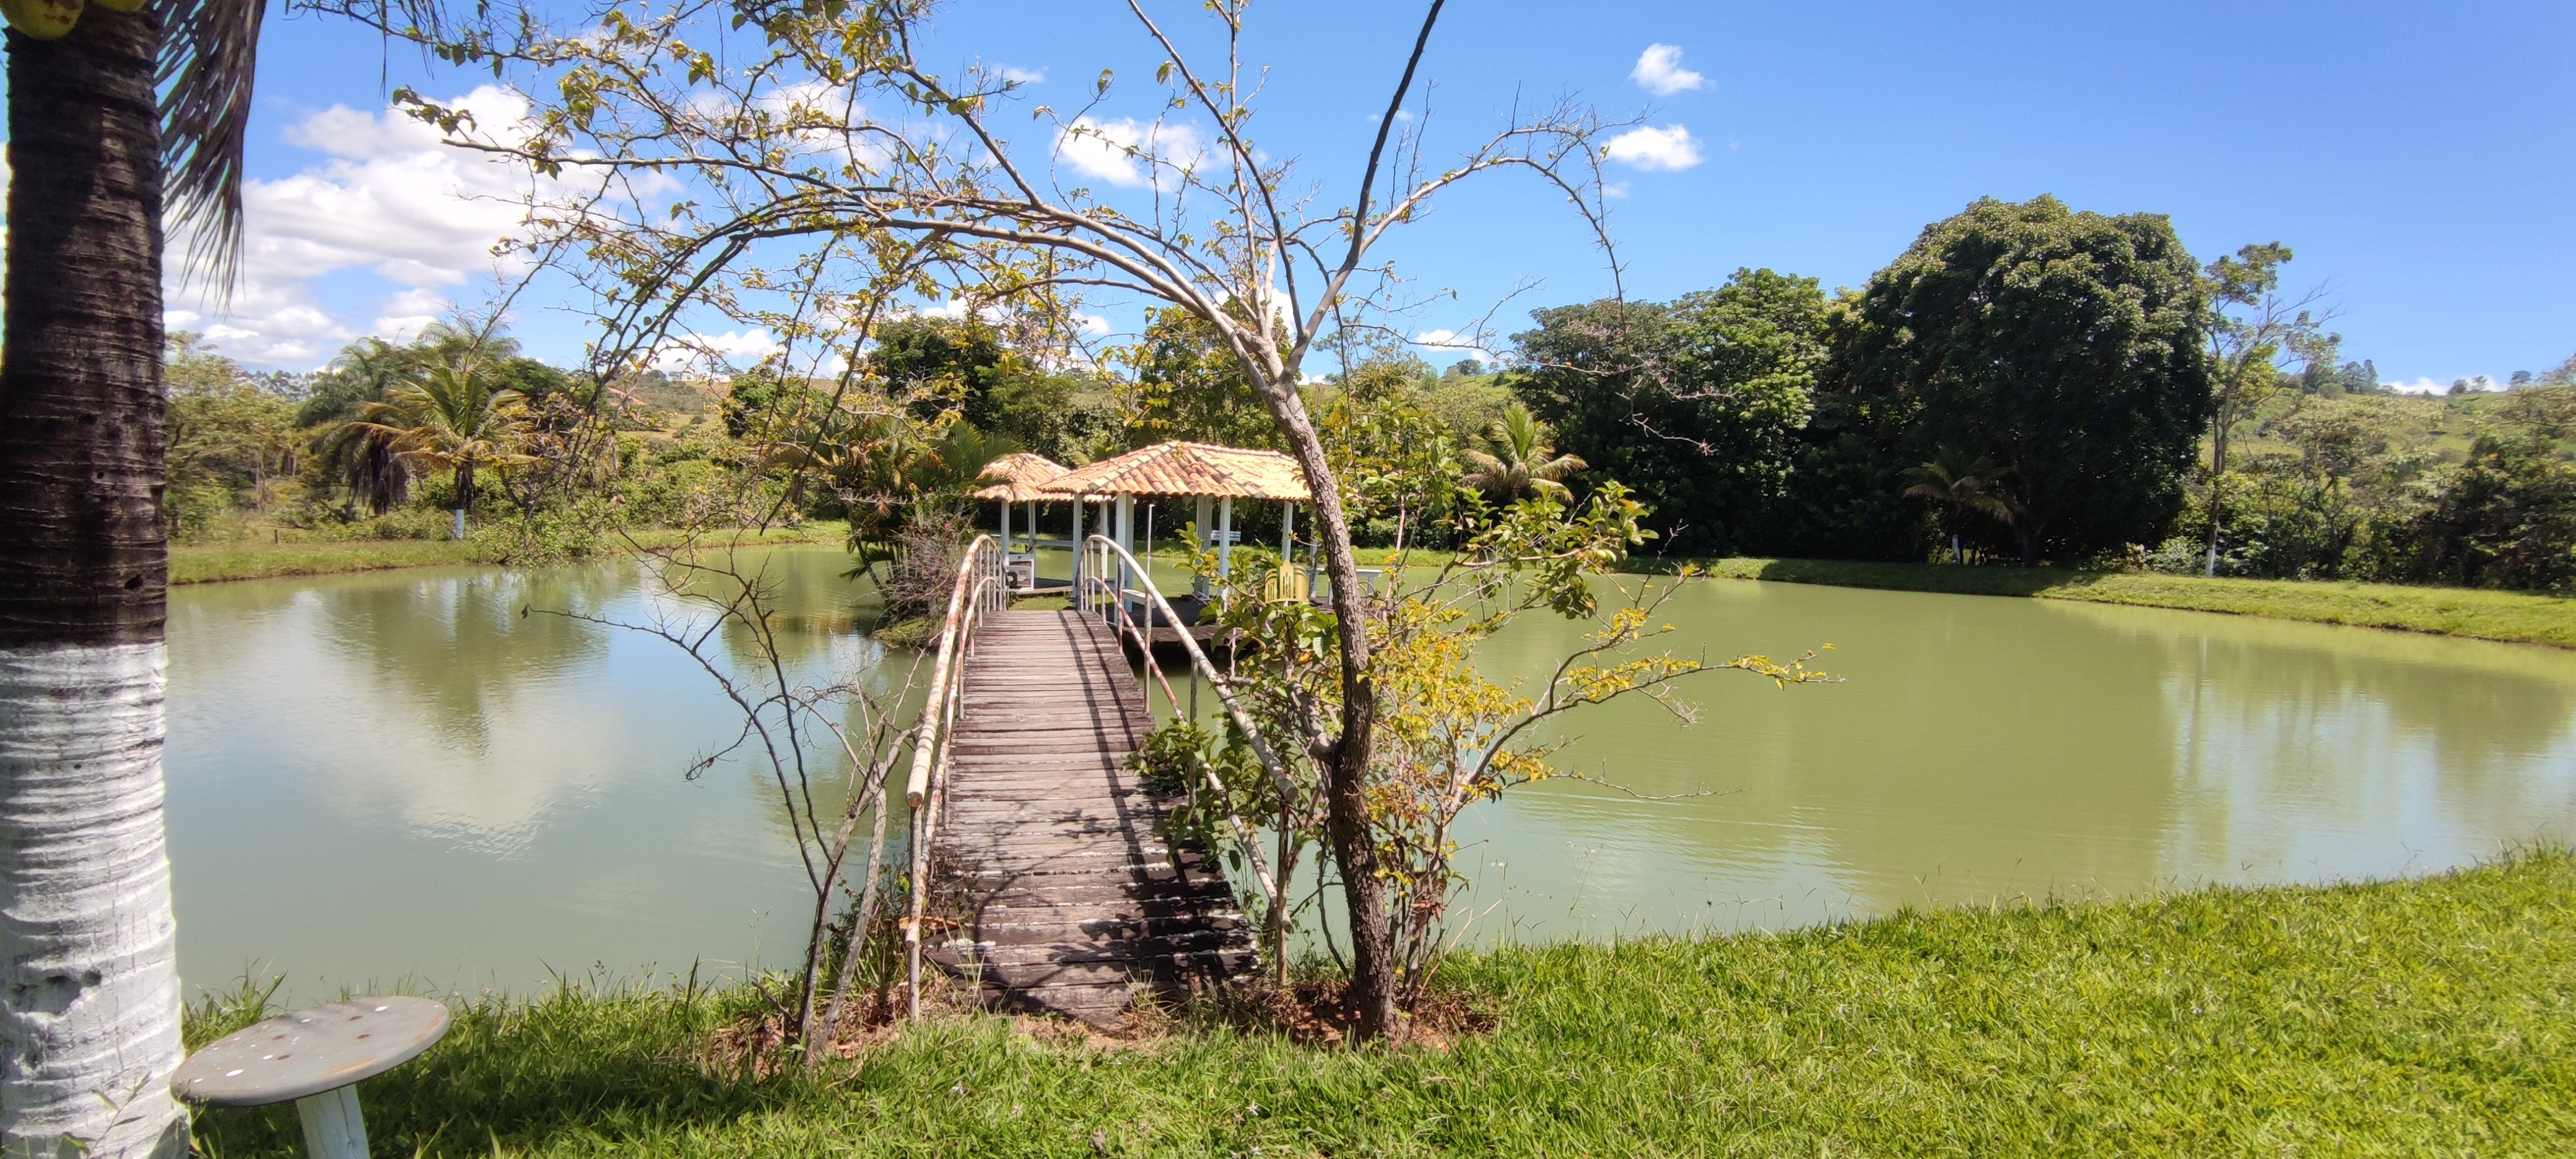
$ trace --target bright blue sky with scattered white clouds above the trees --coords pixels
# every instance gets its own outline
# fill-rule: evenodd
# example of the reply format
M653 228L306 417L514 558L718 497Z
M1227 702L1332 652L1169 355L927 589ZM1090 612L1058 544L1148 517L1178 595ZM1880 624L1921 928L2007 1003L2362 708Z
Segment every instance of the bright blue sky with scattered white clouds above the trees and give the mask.
M1195 3L1151 8L1211 49ZM1417 21L1417 3L1255 8L1247 54L1273 67L1262 147L1347 201ZM1651 46L1677 54L1641 70ZM270 21L260 59L258 278L232 317L175 322L245 361L314 366L353 335L479 301L479 255L507 214L464 196L484 180L469 162L381 111L389 85L461 95L489 75L425 70L312 15ZM1105 116L1151 116L1159 98L1157 57L1110 3L956 0L930 59L1043 75L1030 98L1059 106L1110 67L1123 82ZM1739 265L1860 286L1978 196L2056 193L2172 214L2202 260L2287 242L2290 283L2324 283L2342 312L2347 358L2429 384L2576 353L2571 75L2563 3L1458 0L1427 59L1435 155L1515 98L1643 116L1656 137L1613 162L1631 296L1716 286ZM1414 288L1458 291L1417 314L1422 332L1463 327L1522 281L1538 288L1497 314L1499 335L1530 306L1610 291L1589 234L1528 180L1458 191L1391 255ZM577 361L582 335L549 294L520 304L518 327L531 353Z

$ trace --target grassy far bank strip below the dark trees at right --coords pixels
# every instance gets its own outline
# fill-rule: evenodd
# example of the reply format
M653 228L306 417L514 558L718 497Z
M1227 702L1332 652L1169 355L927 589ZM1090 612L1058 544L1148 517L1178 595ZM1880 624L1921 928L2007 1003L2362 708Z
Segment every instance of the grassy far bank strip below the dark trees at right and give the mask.
M1710 574L1731 580L2125 603L2138 608L2354 623L2365 628L2576 649L2576 600L2530 592L2313 580L2202 580L2151 572L2061 572L2048 567L1855 564L1837 559L1700 559L1698 564Z

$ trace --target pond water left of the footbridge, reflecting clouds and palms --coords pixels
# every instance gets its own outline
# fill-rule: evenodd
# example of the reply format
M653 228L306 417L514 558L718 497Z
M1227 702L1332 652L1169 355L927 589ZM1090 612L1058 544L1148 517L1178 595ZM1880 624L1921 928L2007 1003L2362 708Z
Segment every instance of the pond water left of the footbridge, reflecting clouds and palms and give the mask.
M793 680L889 667L850 631L840 551L773 556ZM801 891L775 788L742 762L683 775L739 713L672 644L567 610L688 613L634 564L175 592L183 976L531 986L791 945L762 935L773 912L793 927ZM837 786L837 752L819 757Z

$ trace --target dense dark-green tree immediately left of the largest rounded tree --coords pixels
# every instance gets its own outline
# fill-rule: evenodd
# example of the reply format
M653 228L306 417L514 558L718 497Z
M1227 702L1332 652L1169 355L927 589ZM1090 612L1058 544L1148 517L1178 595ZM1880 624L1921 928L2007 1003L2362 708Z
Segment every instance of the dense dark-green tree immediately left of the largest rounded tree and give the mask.
M1674 551L1741 551L1790 487L1826 361L1816 278L1736 270L1672 304L1540 309L1515 389Z

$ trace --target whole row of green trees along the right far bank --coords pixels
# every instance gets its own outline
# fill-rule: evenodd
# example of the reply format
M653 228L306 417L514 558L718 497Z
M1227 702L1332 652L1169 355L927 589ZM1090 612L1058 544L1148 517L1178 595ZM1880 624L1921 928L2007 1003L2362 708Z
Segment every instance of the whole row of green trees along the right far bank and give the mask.
M1507 384L1667 554L2568 587L2571 373L2393 397L2287 260L1989 198L1857 291L1540 309Z

